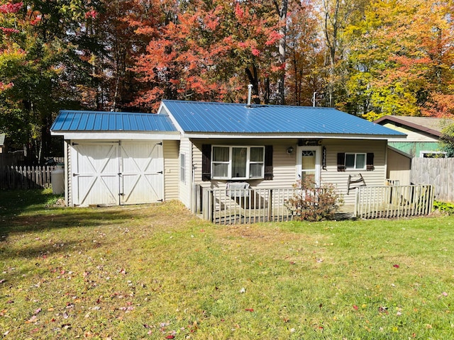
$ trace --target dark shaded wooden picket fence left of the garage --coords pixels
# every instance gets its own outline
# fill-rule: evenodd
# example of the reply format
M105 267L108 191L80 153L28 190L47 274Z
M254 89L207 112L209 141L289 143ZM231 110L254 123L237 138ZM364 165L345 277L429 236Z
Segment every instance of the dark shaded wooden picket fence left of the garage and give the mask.
M50 173L55 166L2 166L0 189L50 188Z

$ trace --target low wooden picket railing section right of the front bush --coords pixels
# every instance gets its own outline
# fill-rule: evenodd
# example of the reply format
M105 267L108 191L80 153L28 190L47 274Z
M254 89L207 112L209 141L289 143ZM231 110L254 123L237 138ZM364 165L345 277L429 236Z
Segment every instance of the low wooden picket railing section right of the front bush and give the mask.
M433 208L433 186L361 186L356 188L355 217L428 215Z

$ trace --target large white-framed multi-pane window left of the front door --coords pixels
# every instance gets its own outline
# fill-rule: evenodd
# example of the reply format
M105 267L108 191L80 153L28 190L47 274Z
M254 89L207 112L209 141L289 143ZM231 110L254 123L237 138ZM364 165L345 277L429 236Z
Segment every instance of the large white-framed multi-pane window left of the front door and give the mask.
M211 155L213 179L263 179L265 147L214 145Z

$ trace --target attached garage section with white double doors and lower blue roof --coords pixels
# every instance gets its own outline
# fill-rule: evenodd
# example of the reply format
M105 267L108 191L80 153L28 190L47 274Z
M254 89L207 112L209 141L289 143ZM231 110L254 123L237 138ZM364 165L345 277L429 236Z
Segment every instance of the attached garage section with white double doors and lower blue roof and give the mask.
M177 176L179 140L167 115L61 111L51 130L52 135L65 139L68 205L126 205L177 198L172 197L171 186L167 196L165 192L165 177L171 183L172 176Z

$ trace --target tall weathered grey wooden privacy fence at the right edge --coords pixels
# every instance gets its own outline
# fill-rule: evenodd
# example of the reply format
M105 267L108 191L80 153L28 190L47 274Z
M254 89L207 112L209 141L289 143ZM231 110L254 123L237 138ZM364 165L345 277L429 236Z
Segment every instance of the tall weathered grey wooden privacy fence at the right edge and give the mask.
M432 184L437 200L454 202L454 158L414 158L411 183Z

